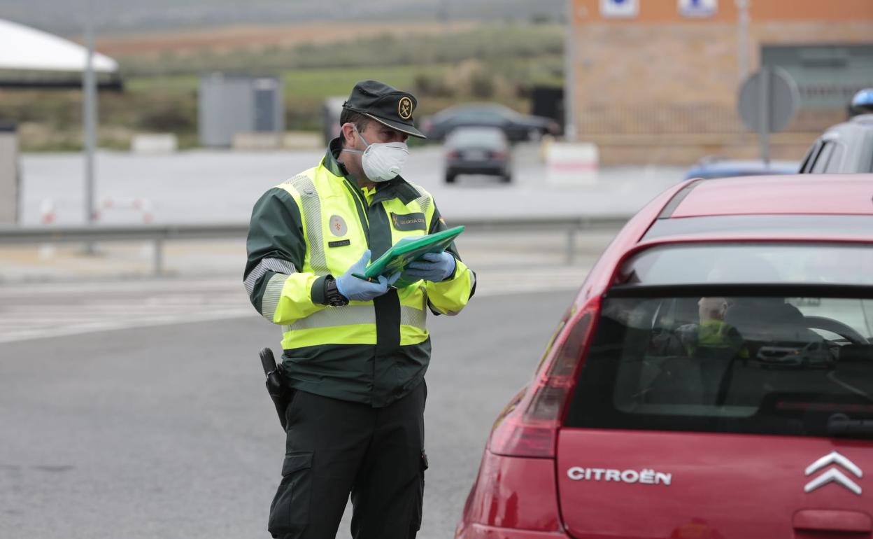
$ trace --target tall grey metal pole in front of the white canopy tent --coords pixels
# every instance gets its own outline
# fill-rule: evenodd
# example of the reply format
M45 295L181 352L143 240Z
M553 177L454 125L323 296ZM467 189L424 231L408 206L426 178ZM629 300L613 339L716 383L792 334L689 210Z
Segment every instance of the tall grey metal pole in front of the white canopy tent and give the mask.
M85 43L88 49L82 77L82 118L85 123L85 222L93 225L94 212L94 147L97 130L97 88L94 77L94 12L93 0L85 0ZM88 245L88 252L93 245Z

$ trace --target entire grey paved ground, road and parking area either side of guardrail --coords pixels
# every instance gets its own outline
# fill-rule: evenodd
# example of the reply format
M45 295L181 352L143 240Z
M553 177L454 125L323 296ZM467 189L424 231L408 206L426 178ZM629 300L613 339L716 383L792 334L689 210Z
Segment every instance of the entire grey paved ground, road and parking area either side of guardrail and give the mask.
M605 169L595 184L549 185L535 148L516 180L443 184L441 150L416 149L413 181L450 221L464 217L629 215L676 183L677 169ZM271 185L320 152L100 152L102 223L245 222ZM49 200L59 225L82 220L79 155L24 155L24 224ZM127 204L127 205L126 205ZM419 537L451 537L498 411L533 375L588 267L615 231L458 241L479 273L457 317L430 319L430 470ZM520 239L519 239L520 238ZM247 305L240 240L168 244L168 275L148 245L0 249L0 537L266 537L284 437L258 349L279 331ZM348 517L339 537L348 536Z

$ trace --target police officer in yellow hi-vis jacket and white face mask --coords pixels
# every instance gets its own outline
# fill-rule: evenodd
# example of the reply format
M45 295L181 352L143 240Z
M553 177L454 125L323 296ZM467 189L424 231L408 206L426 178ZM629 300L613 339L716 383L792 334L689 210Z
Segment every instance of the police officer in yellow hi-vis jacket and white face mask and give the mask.
M357 83L340 136L313 169L254 206L244 283L282 327L292 388L282 480L268 529L281 539L333 539L346 501L355 539L408 539L421 525L427 311L457 314L476 277L452 245L378 282L354 277L401 238L446 229L433 197L400 176L416 98Z

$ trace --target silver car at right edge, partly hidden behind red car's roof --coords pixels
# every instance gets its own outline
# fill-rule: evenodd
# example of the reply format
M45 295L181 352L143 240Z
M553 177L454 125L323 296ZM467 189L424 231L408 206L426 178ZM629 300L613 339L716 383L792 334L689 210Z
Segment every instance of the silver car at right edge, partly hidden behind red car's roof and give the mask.
M873 172L873 114L828 128L803 158L801 174Z

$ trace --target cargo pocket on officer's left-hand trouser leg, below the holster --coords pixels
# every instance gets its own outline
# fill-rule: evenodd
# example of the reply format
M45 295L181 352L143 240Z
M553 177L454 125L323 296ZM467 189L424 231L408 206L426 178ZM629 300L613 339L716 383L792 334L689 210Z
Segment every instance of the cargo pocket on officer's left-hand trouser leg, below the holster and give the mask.
M313 452L286 453L282 464L282 482L270 506L267 529L273 537L296 537L309 523L309 506L313 494Z

